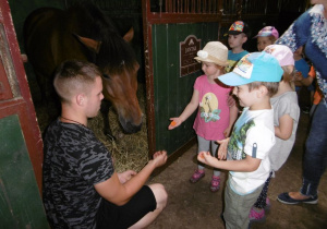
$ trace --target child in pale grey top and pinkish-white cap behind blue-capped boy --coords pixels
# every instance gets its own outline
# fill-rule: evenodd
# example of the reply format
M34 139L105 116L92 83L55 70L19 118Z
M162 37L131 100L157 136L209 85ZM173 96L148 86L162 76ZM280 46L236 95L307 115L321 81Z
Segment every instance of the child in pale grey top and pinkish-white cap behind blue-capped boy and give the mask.
M275 172L287 161L293 148L300 117L298 95L291 85L294 70L292 50L284 45L270 45L265 48L264 52L270 53L278 60L283 70L283 76L279 82L278 92L270 99L274 107L276 136L276 144L269 152L271 172L256 203L251 208L249 215L251 224L263 221L266 218L265 212L270 208L270 201L267 196L270 179L275 177Z

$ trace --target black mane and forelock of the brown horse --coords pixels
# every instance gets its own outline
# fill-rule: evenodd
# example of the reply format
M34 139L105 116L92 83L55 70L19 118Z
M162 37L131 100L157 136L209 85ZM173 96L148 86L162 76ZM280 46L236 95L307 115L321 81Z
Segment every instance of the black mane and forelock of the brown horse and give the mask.
M86 36L101 41L101 48L95 60L100 69L109 65L110 72L114 73L120 73L124 68L129 71L135 69L137 61L134 50L118 33L113 22L98 7L88 0L78 1L72 8L82 12L80 15L83 16L84 23L81 26L85 27Z

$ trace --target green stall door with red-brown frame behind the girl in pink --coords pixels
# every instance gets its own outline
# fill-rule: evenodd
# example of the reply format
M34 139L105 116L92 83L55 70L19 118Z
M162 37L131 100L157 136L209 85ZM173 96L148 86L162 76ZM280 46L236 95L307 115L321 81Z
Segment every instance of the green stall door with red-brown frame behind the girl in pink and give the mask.
M149 154L166 149L169 161L173 161L195 143L196 112L171 131L169 118L181 114L191 100L196 77L203 74L201 64L184 74L183 44L194 37L190 40L194 45L191 47L189 41L186 45L202 49L206 43L218 40L222 1L169 0L164 4L164 1L143 0L142 3ZM187 62L194 61L196 52Z

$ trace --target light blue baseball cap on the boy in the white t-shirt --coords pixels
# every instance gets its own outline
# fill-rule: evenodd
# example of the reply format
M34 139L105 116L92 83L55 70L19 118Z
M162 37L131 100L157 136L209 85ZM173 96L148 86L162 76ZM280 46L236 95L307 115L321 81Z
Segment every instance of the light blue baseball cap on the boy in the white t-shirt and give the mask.
M278 60L267 52L245 55L232 72L218 76L229 86L240 86L252 82L280 82L282 69Z

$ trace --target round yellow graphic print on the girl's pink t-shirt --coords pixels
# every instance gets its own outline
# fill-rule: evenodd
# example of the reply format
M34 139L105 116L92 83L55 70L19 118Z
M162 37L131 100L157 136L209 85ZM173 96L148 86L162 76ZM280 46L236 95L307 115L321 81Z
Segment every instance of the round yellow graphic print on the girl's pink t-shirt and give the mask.
M220 119L218 109L218 99L214 93L206 93L199 103L199 114L205 122L215 122Z

